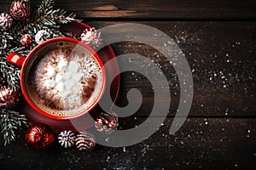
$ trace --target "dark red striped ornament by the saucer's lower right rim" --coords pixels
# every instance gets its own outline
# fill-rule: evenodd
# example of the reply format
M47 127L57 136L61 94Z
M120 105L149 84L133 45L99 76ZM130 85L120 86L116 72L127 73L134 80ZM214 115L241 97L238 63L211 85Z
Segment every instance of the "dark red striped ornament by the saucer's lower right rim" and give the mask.
M96 118L95 127L102 133L113 133L118 126L118 116L114 113L102 112Z

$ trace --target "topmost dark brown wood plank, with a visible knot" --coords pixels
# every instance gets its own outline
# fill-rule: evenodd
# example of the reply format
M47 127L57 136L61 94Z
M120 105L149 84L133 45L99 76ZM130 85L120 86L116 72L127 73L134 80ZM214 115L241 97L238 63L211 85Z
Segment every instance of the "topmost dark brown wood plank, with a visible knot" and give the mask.
M8 11L10 0L2 0L0 11ZM38 4L40 0L32 1ZM155 20L255 20L253 0L55 0L56 8L66 8L79 18Z

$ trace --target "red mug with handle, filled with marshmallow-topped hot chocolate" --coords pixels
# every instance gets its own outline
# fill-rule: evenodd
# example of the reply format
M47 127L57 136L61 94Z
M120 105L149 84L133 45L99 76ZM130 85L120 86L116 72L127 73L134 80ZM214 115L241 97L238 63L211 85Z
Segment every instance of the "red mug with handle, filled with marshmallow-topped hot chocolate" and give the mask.
M106 88L102 59L88 45L70 37L42 42L26 58L11 53L7 61L21 67L20 88L27 103L51 119L83 116L95 108Z

